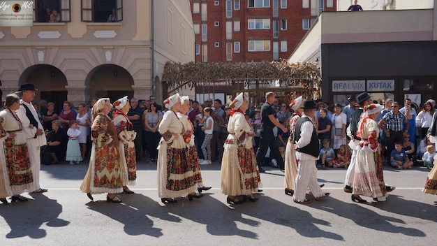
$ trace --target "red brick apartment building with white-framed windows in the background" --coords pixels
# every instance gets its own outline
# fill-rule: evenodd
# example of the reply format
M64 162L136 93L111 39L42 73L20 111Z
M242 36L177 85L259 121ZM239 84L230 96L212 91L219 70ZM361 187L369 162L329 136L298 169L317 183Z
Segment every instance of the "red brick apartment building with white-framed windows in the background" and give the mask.
M288 59L334 0L190 0L197 62Z

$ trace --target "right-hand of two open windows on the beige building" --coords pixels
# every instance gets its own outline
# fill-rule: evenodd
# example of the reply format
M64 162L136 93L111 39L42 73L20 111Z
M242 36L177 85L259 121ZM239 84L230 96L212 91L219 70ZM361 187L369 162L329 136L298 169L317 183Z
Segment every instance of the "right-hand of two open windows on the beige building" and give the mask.
M82 0L82 22L120 22L123 0Z

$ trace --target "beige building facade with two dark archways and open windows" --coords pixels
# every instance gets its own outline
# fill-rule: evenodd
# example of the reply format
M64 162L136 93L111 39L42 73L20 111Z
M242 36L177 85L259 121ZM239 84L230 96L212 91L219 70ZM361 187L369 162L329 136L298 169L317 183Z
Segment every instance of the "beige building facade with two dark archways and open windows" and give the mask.
M60 22L43 19L52 2ZM33 27L0 27L2 99L30 82L35 101L58 110L65 100L77 106L126 94L159 102L165 62L195 59L189 0L35 0L34 8Z

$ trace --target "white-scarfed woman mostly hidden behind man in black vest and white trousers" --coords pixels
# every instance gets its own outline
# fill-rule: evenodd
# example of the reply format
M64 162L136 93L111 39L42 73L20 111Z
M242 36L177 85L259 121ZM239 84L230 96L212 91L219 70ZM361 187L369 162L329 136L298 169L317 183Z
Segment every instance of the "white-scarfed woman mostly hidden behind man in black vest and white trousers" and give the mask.
M296 130L296 122L302 116L302 104L304 100L302 96L299 96L297 99L290 103L290 108L293 111L292 116L290 118L290 137L288 138L288 144L286 146L286 158L284 161L285 164L285 185L286 190L285 193L288 196L292 196L295 194L295 180L297 175L297 160L296 160L296 150L292 148L292 143L294 140L294 134Z

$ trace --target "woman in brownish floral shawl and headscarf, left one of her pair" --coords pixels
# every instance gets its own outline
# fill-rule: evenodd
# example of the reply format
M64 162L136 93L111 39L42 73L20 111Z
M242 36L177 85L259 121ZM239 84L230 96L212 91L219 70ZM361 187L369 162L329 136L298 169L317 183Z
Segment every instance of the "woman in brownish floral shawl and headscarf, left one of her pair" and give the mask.
M126 166L121 162L117 129L108 113L112 105L110 99L98 99L91 110L91 157L85 178L80 190L91 194L108 192L106 201L121 203L115 193L123 192L123 185L128 181Z

